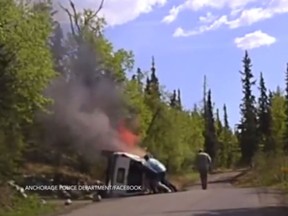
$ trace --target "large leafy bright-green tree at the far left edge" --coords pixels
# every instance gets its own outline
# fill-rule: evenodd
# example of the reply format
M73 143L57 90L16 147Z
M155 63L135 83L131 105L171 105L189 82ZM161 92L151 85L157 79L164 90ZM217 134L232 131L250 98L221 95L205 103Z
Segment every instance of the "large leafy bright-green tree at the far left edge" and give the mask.
M28 124L50 101L43 91L55 72L47 44L52 31L47 10L4 0L0 14L0 148L5 152L0 160L7 165L0 173L7 176L23 149Z

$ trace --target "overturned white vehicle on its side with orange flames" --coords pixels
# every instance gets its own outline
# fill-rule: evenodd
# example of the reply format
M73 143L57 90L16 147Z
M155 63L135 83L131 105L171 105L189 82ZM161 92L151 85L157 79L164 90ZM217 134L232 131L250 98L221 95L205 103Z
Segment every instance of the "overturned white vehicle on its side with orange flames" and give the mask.
M147 134L158 113L159 110L153 116ZM122 143L125 143L123 151L102 151L102 155L108 159L105 184L107 188L111 188L110 190L107 190L105 196L119 197L145 194L147 191L151 190L151 179L147 176L145 159L139 155L144 156L147 152L138 148L137 144L139 143L139 137L132 133L126 127L125 123L121 122L121 124L119 124L118 134ZM143 143L144 142L145 140ZM132 154L132 152L135 154ZM154 187L154 189L156 187L157 192L163 192L163 187L161 185L162 183L157 181L154 182L154 186L152 184L152 187ZM131 186L133 187L133 190L122 189ZM121 190L118 190L117 187L121 188ZM139 189L135 190L136 187ZM175 188L173 188L172 191L175 191Z

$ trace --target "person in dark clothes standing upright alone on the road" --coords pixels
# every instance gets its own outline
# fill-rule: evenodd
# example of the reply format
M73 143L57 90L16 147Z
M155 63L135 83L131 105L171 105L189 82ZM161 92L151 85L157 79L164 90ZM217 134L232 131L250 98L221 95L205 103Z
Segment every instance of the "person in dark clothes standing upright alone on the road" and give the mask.
M201 186L203 190L207 189L208 173L211 168L211 163L212 160L210 155L200 149L196 157L196 167L200 174Z

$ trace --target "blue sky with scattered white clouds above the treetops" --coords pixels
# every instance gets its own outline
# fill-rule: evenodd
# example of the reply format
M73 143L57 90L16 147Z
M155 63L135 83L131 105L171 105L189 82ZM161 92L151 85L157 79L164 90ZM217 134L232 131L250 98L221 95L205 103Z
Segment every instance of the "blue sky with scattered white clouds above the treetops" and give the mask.
M100 0L74 3L97 9ZM284 87L288 0L105 0L101 15L115 48L133 51L135 68L149 70L155 57L160 83L179 88L185 108L201 102L206 75L215 108L223 115L226 104L238 123L245 50L257 81L262 72L269 89Z

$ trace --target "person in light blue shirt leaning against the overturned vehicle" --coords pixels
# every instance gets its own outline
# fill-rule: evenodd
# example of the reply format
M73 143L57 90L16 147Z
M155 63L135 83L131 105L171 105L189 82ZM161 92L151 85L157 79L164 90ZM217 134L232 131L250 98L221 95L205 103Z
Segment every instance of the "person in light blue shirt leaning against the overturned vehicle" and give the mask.
M149 170L156 174L158 182L161 183L160 186L165 188L168 192L172 192L172 190L177 191L176 187L166 179L167 169L164 164L162 164L159 160L153 158L148 154L144 156L144 159L144 166L146 166Z

